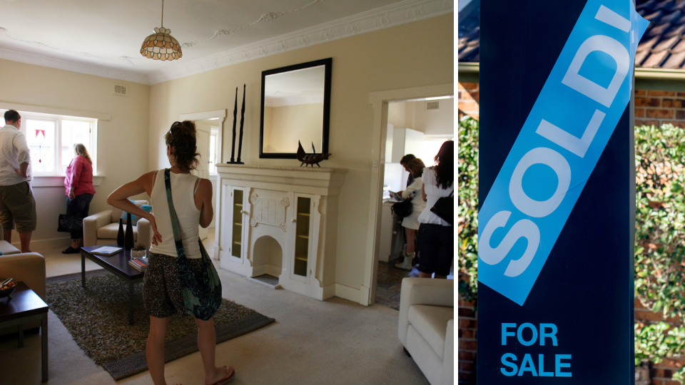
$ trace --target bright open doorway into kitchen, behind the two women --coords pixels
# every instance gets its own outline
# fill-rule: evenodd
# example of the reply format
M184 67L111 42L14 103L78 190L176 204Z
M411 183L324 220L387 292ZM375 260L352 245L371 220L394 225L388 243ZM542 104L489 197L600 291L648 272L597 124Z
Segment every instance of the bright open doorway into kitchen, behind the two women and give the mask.
M420 211L415 208L412 215L403 220L391 210L400 200L397 193L402 195L415 176L410 178L405 159L417 158L425 167L435 165L434 158L442 143L454 140L454 119L455 100L450 96L388 103L375 302L393 309L400 309L402 279L418 277L420 264L414 228ZM405 160L404 165L400 163L402 160ZM420 191L407 199L422 202ZM415 207L420 206L420 202Z

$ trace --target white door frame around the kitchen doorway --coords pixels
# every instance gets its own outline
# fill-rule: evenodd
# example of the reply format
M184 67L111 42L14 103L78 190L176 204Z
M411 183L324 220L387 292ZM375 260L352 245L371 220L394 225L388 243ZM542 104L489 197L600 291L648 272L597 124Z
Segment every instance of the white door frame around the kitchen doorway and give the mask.
M371 194L369 197L369 228L364 258L364 276L360 287L359 303L375 302L380 248L380 220L382 209L383 176L385 174L385 138L387 136L387 106L390 102L409 101L439 96L454 96L455 83L437 84L369 93L373 109Z

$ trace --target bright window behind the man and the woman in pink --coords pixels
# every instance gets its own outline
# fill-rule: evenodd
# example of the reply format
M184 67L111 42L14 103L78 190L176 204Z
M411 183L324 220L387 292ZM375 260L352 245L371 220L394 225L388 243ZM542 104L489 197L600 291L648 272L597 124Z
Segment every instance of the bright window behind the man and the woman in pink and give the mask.
M0 114L5 111L0 110ZM19 111L21 132L31 149L34 176L64 175L73 159L73 145L81 143L93 160L97 173L97 119ZM0 118L1 125L5 125Z

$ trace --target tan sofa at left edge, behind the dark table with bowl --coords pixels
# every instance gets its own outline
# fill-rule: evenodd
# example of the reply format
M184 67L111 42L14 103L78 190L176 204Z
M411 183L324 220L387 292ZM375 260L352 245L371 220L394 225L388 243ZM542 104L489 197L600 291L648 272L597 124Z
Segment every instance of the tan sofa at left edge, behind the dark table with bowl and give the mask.
M37 252L21 253L19 249L3 240L2 226L0 226L0 279L14 278L14 282L24 281L44 301L45 297L45 258ZM0 282L1 282L0 281ZM6 301L7 299L2 299ZM25 329L40 327L41 322L29 322ZM0 335L16 332L16 327L0 329Z

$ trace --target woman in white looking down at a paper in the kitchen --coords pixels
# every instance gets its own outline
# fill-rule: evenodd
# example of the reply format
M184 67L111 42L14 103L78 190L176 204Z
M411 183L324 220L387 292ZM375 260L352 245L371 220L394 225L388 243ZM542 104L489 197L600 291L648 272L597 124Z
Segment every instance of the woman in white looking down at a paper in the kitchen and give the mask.
M423 188L421 173L423 173L425 167L426 165L423 164L423 161L419 158L410 160L405 168L409 170L410 175L414 179L412 180L412 183L407 186L406 190L398 193L402 195L402 198L405 200L409 199L412 201L412 213L408 217L402 219L402 227L405 227L405 234L407 235L407 249L404 252L405 260L395 264L395 267L402 270L412 270L412 260L414 260L416 255L416 230L419 230L420 225L418 219L419 215L426 207L426 202L424 202L423 197L421 196Z

